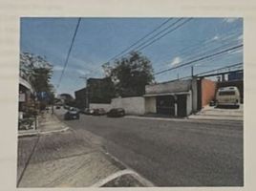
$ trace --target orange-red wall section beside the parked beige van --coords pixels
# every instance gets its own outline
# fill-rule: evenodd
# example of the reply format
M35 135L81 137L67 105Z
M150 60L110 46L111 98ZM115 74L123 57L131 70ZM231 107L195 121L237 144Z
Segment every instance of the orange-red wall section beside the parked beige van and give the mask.
M202 107L209 104L215 97L216 83L209 79L202 79Z

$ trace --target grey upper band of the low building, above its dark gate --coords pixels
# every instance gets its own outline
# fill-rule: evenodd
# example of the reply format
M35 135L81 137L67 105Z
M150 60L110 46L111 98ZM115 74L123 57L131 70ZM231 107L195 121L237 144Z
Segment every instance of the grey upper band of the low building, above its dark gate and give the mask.
M176 80L154 85L146 85L146 95L155 95L163 93L181 93L188 92L191 88L191 80Z

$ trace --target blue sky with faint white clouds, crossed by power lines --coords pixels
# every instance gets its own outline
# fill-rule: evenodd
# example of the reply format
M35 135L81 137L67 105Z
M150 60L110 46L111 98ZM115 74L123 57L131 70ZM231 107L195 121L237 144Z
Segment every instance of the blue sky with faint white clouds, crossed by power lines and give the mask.
M57 93L70 93L74 96L76 90L85 86L84 80L79 76L103 77L103 63L157 29L167 19L82 18ZM157 32L178 19L172 18ZM53 64L54 86L63 70L76 23L77 18L21 18L20 51L46 56ZM152 36L144 40L149 40ZM151 60L154 71L159 72L242 43L243 19L193 18L140 52ZM216 56L214 59L193 63L194 74L239 62L243 62L243 48ZM190 73L191 66L187 66L155 77L158 82L162 82Z

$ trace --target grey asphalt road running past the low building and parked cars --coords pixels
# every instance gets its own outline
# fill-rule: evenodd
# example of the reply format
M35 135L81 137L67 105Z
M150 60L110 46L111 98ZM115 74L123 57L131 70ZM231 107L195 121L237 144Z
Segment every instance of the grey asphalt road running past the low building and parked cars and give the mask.
M63 118L60 111L56 111ZM65 121L157 186L243 186L243 121L109 118Z

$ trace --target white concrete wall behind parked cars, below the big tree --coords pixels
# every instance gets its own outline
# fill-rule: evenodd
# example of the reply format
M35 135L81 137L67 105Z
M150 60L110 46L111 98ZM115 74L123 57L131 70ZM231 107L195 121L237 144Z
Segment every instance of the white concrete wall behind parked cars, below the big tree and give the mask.
M123 108L126 114L145 114L145 99L142 96L118 97L111 101L112 108Z

